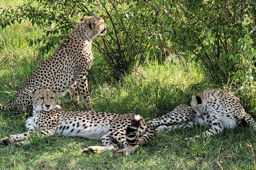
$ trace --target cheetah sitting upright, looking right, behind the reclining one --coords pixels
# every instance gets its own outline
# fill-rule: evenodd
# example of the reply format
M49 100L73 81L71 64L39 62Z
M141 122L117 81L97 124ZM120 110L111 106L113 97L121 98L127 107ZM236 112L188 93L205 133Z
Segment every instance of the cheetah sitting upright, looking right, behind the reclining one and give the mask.
M88 109L92 109L88 91L87 74L93 56L91 45L96 36L106 32L103 18L89 16L80 18L80 23L57 47L52 57L44 61L20 87L13 100L0 106L0 110L16 107L19 111L32 110L29 91L42 88L52 90L57 97L70 92L71 101L79 104L79 94Z

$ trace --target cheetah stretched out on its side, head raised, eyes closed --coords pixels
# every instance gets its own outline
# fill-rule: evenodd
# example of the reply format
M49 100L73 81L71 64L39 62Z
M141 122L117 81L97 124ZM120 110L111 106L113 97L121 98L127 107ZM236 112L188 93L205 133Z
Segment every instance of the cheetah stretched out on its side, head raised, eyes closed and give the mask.
M154 137L154 129L139 115L95 111L64 111L57 108L56 95L48 89L29 91L33 101L33 116L26 121L27 132L10 135L0 145L30 143L30 135L80 136L101 139L104 146L91 146L83 152L114 150L129 155ZM119 150L118 143L124 146Z

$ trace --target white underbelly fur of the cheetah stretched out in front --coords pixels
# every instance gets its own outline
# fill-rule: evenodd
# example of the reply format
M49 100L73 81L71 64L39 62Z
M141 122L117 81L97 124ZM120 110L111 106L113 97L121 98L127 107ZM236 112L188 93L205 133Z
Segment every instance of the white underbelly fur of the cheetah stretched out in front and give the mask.
M64 125L64 124L63 124ZM87 139L100 139L103 135L107 134L108 131L110 130L110 125L109 126L87 126L87 128L84 128L83 126L81 127L71 127L72 125L69 126L68 129L60 130L60 127L63 125L58 125L57 129L55 131L55 135L60 135L60 136L66 136L66 137L71 137L71 136L80 136L84 137ZM71 130L74 129L72 132ZM80 130L80 131L79 131Z

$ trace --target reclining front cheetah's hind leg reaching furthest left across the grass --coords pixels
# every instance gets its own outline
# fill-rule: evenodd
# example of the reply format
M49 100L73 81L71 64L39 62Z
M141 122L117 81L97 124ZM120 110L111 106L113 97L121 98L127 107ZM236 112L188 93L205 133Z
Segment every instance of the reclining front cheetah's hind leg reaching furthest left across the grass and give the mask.
M107 150L117 151L119 149L118 142L115 141L109 134L105 134L101 137L101 142L104 146L90 146L84 149L84 153L96 153L103 152Z

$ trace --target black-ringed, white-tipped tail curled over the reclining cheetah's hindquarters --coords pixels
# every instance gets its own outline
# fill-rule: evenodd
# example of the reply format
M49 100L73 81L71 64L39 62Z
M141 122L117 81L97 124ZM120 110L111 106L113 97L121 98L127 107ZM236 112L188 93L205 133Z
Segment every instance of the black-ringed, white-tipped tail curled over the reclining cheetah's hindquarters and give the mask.
M129 144L135 144L138 135L146 131L145 120L140 115L135 115L131 120L130 126L126 129L126 141ZM137 145L137 144L136 144Z

